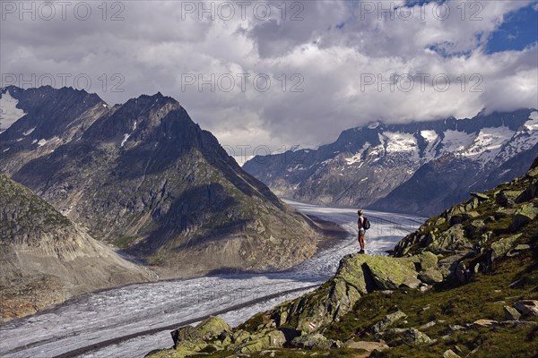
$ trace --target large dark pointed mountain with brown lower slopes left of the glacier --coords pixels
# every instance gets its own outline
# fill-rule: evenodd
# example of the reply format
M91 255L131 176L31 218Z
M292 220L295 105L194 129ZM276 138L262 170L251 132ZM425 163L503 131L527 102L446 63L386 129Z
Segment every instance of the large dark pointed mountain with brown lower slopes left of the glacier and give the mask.
M83 91L8 90L26 115L0 134L0 169L161 277L290 268L317 251L317 227L247 175L175 99L108 107ZM71 100L82 104L66 107ZM45 121L55 121L52 132Z

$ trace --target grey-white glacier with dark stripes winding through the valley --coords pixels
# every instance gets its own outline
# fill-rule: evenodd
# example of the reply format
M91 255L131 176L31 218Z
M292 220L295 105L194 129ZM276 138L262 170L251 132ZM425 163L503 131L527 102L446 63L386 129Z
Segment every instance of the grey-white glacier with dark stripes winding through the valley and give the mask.
M293 299L334 275L343 255L358 251L356 212L351 209L318 207L289 202L302 213L315 215L342 226L349 236L331 248L291 270L265 274L228 274L181 281L162 281L125 286L88 294L52 310L0 326L0 355L10 357L67 354L88 345L99 345L111 338L135 335L148 329L168 327L174 322L221 314L238 325L258 311ZM421 223L420 217L368 213L372 230L367 236L369 254L383 255L394 248L405 234ZM374 228L375 227L375 228ZM301 288L308 287L306 290ZM289 290L292 293L282 294ZM265 300L264 297L275 295ZM261 302L256 302L261 300ZM253 302L254 301L254 302ZM148 348L168 348L169 330L131 337L82 354L86 357L143 357Z

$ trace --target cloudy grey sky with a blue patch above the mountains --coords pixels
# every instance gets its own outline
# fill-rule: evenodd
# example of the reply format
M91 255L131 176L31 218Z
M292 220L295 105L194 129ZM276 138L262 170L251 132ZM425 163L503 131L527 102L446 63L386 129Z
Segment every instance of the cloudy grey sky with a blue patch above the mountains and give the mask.
M239 162L345 129L538 107L538 2L5 1L2 84L161 92Z

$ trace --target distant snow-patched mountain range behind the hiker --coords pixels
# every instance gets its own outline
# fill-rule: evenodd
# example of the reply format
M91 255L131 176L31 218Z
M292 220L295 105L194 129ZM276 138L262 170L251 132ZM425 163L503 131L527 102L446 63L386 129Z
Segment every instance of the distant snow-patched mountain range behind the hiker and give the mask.
M335 206L437 214L525 174L538 155L538 112L374 124L319 149L257 156L243 167L281 196ZM490 149L489 143L499 144Z

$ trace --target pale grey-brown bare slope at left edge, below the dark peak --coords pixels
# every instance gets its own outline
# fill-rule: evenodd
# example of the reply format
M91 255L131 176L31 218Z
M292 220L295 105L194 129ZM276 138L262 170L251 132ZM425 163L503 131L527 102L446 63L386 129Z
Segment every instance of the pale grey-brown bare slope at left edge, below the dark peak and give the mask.
M0 174L1 320L97 289L154 279Z

